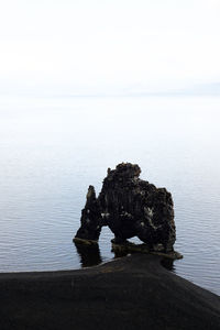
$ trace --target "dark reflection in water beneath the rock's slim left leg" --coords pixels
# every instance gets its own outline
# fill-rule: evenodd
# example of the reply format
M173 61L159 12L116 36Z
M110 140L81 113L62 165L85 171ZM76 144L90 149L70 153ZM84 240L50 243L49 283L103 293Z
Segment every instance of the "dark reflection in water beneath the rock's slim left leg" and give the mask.
M77 242L74 243L80 257L81 267L96 266L102 262L98 244L86 245Z

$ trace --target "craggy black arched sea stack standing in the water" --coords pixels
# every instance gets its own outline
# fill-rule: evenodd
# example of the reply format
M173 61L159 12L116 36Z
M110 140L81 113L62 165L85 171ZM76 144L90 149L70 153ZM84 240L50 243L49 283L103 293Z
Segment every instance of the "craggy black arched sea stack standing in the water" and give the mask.
M173 251L176 230L172 195L140 179L140 173L139 165L122 163L108 169L98 198L89 186L75 240L98 241L101 227L108 226L114 243L138 237L151 251Z

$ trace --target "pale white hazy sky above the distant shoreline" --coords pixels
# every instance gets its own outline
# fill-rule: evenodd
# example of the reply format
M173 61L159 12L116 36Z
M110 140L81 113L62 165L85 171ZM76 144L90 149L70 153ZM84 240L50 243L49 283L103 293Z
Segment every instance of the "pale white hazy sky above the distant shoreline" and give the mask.
M0 2L1 94L132 94L220 81L219 0Z

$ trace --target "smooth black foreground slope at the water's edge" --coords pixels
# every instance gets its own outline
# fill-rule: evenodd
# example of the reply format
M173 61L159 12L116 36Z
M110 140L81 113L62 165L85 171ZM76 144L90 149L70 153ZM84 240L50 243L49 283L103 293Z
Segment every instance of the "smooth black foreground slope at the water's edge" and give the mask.
M92 268L0 275L0 329L219 330L220 297L135 254Z

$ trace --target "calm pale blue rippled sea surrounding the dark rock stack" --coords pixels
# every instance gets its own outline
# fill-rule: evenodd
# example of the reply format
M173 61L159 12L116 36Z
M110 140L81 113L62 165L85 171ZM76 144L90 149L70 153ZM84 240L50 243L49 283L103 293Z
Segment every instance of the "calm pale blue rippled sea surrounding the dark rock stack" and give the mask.
M72 240L88 186L100 191L108 167L131 162L173 194L175 273L220 295L219 97L4 97L0 107L0 272L113 258L107 228L99 250Z

